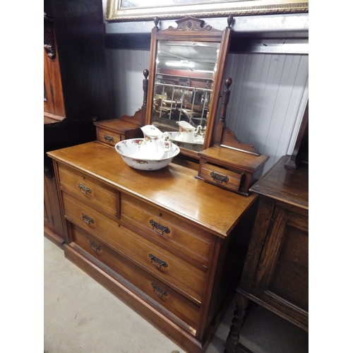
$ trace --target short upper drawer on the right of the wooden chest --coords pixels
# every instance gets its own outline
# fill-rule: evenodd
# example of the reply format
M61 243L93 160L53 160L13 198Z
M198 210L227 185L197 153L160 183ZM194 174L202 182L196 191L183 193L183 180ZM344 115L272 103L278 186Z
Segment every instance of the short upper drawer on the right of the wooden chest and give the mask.
M208 268L213 236L188 220L121 193L120 218L143 234Z

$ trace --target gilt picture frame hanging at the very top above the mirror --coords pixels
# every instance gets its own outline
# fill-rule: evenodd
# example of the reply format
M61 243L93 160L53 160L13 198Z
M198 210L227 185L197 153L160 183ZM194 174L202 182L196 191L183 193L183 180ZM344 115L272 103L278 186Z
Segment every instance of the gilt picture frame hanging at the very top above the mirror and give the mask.
M306 12L309 0L107 0L105 19L114 22L152 20L156 16L163 20Z

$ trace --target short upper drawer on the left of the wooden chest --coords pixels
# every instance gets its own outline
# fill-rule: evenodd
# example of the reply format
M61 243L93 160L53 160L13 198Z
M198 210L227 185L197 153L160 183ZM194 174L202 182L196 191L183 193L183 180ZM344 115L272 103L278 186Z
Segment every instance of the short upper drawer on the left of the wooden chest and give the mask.
M109 186L76 169L61 164L59 164L59 178L61 189L116 217L118 193L114 189L110 189Z

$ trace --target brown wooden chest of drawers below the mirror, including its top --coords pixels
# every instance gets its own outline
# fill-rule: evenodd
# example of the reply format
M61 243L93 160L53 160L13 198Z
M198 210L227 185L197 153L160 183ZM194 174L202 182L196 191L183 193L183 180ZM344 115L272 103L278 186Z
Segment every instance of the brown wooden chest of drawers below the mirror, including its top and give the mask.
M258 196L197 179L193 162L132 169L99 141L48 154L66 258L186 352L204 352L239 283Z

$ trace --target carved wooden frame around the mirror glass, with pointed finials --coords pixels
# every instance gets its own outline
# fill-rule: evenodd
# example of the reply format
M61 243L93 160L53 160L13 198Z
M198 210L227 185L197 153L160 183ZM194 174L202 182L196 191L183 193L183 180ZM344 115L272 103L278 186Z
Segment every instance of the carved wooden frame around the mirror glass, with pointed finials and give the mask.
M213 83L213 92L210 99L208 123L205 133L205 142L203 143L203 150L213 145L213 134L215 131L216 114L220 104L220 93L222 89L222 80L225 74L225 67L227 64L227 54L229 51L230 35L232 32L233 16L230 15L227 19L227 27L225 30L216 30L210 25L203 25L204 20L198 18L186 17L181 20L176 20L177 28L169 26L165 30L159 30L159 19L155 18L155 27L151 32L150 44L150 70L149 70L149 85L147 96L147 112L146 124L152 124L152 106L153 95L155 90L155 73L156 73L156 59L157 59L157 42L159 40L172 40L182 42L219 42L220 52L217 59L217 71L215 73L215 80ZM180 148L181 155L186 155L194 159L199 159L198 152L193 150L186 150Z

